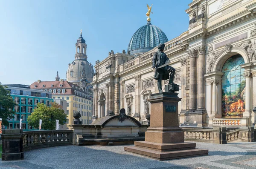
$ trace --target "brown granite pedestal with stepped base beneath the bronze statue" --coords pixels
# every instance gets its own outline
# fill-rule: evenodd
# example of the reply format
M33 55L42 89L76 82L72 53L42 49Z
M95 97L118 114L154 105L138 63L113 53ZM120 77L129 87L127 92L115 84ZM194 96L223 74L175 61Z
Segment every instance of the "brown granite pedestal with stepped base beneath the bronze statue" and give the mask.
M179 127L177 93L161 92L151 95L150 127L145 132L145 141L125 146L125 151L157 160L169 160L208 155L207 149L196 149L196 143L185 143Z

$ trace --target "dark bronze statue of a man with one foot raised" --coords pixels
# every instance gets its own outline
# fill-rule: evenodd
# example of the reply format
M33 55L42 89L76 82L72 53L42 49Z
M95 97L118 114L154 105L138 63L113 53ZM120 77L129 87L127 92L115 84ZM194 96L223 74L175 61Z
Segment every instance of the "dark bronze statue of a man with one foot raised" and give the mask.
M157 47L158 51L154 53L153 59L152 59L152 68L155 70L154 79L157 80L157 87L159 92L163 92L162 90L162 80L169 79L169 85L165 92L175 92L179 91L179 85L176 85L173 83L174 75L175 75L175 69L172 66L169 66L170 63L169 58L167 55L163 52L165 45L163 43L160 43ZM169 77L170 73L170 77Z

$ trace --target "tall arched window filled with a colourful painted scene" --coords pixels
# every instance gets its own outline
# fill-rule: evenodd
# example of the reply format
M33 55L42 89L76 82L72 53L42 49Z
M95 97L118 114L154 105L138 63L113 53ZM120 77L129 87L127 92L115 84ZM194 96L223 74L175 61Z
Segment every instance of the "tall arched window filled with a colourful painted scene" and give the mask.
M222 68L222 117L243 117L245 109L244 64L240 54L230 57Z

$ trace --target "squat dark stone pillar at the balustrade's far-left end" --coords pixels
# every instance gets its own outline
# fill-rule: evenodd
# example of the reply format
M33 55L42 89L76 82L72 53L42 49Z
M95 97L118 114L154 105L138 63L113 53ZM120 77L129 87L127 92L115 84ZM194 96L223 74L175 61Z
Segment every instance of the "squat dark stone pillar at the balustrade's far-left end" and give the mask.
M1 134L3 140L2 160L23 160L23 130L3 129Z

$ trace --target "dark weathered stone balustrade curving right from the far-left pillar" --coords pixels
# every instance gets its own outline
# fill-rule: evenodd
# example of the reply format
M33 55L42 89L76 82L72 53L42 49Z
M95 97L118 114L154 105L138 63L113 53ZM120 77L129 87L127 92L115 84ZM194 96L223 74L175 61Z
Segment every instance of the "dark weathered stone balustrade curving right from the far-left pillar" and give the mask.
M23 150L73 144L73 130L41 130L23 132Z

